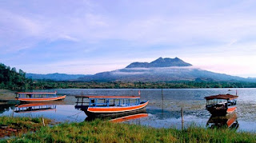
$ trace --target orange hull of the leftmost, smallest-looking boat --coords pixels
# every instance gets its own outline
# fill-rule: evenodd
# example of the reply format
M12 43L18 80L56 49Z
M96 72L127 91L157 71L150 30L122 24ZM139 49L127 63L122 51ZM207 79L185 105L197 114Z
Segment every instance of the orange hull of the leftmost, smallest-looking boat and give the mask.
M60 97L16 97L15 99L21 102L42 102L42 101L59 101L64 100L66 95Z

